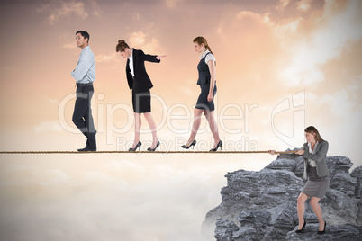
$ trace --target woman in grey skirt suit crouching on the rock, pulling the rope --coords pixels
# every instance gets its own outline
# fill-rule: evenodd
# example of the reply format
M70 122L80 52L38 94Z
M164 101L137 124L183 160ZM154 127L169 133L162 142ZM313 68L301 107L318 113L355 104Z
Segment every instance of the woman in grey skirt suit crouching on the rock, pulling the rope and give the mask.
M326 157L328 151L328 142L321 138L320 133L315 127L307 127L304 129L305 138L307 143L298 150L295 154L283 154L279 155L280 158L294 159L298 155L304 157L304 179L307 179L301 194L297 201L297 210L299 218L299 227L296 230L297 233L301 233L305 227L304 220L304 202L311 197L312 209L317 215L317 219L320 223L318 234L324 234L327 223L324 221L321 215L321 206L318 202L326 193L330 186L329 171L327 168ZM271 155L276 154L276 151L269 150Z

